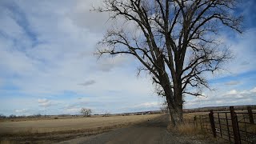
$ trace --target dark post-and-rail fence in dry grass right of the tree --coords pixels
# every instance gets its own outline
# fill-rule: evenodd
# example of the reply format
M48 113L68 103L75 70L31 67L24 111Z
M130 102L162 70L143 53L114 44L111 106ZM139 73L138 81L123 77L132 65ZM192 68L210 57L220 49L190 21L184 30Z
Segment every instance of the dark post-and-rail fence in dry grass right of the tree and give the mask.
M214 138L223 138L230 143L256 143L256 113L251 107L247 112L235 112L234 106L230 111L210 110L209 114L200 115L194 118L196 126L214 135ZM199 122L198 122L199 121Z

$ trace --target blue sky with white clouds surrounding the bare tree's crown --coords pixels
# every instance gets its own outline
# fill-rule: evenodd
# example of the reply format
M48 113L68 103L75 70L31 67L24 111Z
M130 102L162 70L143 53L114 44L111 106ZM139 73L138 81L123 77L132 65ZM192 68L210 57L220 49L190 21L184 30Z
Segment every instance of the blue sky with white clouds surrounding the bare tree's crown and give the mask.
M108 14L100 1L0 0L0 114L94 114L159 110L162 98L138 62L100 58L95 44ZM207 97L186 97L186 108L256 104L256 2L239 6L245 32L223 33L234 59L210 78Z

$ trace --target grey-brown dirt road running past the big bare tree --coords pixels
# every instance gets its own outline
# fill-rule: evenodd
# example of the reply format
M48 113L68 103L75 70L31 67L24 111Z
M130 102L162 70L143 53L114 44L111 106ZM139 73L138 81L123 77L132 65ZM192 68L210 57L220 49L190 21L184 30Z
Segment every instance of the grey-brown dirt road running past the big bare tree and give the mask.
M205 138L197 136L181 136L171 134L166 130L167 115L159 118L150 119L148 122L113 130L108 133L94 135L84 138L75 138L59 144L66 143L107 143L107 144L124 144L124 143L213 143L206 141Z

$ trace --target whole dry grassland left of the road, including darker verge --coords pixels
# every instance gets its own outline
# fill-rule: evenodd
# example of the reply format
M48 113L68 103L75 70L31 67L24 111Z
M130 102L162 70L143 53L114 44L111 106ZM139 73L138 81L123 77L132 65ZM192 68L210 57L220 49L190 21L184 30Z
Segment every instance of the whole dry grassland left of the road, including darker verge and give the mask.
M117 128L147 122L162 114L89 117L89 118L16 118L0 122L0 143L54 143L71 138L102 134Z

